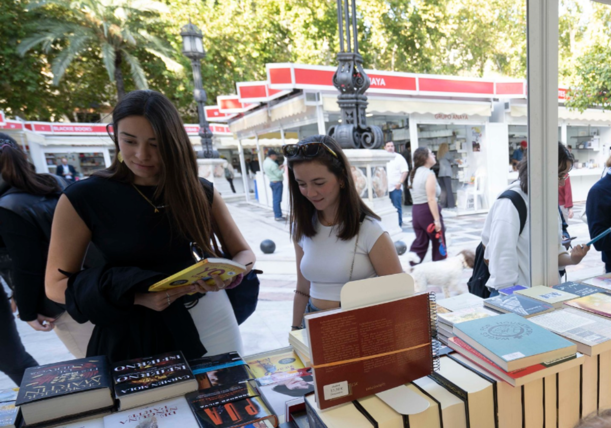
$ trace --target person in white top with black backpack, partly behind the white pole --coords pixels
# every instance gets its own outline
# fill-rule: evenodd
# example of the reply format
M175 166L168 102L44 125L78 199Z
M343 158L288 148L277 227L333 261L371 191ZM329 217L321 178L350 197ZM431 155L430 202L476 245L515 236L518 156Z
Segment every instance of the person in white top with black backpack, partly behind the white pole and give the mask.
M563 186L569 171L573 168L573 155L562 142L558 142L558 185ZM481 232L483 258L488 265L490 277L485 286L490 296L499 294L499 290L516 284L530 287L530 215L529 204L529 168L528 158L518 165L518 180L501 194L494 202L484 229ZM522 201L520 201L522 199ZM523 204L522 204L523 202ZM522 216L520 215L522 211ZM522 218L521 218L522 217ZM558 266L576 265L581 262L590 249L585 245L576 245L569 254L562 246L562 229L558 219ZM477 259L477 255L476 255ZM477 267L477 260L476 260ZM474 268L474 276L476 268ZM476 278L477 279L477 278ZM469 281L470 292L473 278ZM479 293L478 293L479 294ZM487 297L487 296L483 296Z

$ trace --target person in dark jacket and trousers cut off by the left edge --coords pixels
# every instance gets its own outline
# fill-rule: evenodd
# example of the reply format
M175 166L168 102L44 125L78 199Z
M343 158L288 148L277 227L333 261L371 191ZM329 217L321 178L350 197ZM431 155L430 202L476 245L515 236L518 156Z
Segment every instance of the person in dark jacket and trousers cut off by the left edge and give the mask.
M15 287L9 299L4 287L0 286L0 371L20 385L27 367L37 366L38 363L21 343L13 315L16 309L13 302L18 303L21 319L39 331L50 331L54 317L63 311L45 297L45 248L38 245L40 239L34 232L35 224L25 218L32 222L40 218L44 221L45 216L40 212L45 212L45 202L54 207L53 200L57 202L60 187L51 175L35 174L16 141L4 133L0 133L0 172L0 236L5 245L2 250L12 258L10 282ZM31 193L21 191L14 185L29 188ZM34 208L33 212L24 213L31 199L40 202L42 210ZM37 275L40 273L42 276Z

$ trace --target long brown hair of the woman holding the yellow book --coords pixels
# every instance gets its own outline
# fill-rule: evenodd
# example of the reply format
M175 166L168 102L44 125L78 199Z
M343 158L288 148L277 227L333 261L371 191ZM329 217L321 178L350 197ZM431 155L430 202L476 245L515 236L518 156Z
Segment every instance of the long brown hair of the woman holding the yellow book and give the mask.
M185 131L178 110L164 95L154 90L134 90L112 111L110 134L119 153L120 121L128 116L143 116L151 124L158 144L161 168L155 197L163 194L164 205L174 226L186 238L192 239L208 254L216 254L211 247L213 236L210 202L197 177L197 158ZM133 183L134 174L115 154L109 168L94 175ZM134 194L134 197L137 195Z

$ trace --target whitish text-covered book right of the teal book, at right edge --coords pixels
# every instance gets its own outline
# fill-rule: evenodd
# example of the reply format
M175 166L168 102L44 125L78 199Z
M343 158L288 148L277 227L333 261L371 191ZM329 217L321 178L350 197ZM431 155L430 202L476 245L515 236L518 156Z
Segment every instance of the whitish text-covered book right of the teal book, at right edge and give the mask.
M577 350L585 355L591 356L596 347L596 354L611 349L611 320L598 315L566 308L532 317L530 320L574 342L577 344ZM605 343L604 347L599 346Z

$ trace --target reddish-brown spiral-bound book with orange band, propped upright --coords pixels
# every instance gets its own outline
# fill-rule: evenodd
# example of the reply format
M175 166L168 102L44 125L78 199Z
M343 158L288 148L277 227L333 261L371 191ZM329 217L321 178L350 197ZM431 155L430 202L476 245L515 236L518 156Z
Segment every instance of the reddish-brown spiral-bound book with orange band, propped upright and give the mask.
M305 315L321 410L404 385L438 364L434 293Z

